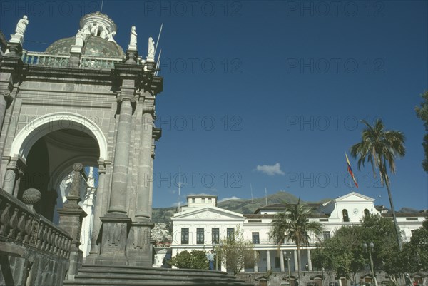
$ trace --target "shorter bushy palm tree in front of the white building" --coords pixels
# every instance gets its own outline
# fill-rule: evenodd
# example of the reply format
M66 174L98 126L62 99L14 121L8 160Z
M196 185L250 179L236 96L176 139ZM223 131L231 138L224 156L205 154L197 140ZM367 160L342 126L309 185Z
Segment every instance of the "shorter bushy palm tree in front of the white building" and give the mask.
M296 244L298 280L300 280L300 247L309 245L310 233L317 236L322 232L322 225L319 222L308 220L310 213L312 208L301 204L299 198L297 204L287 204L284 213L275 214L271 225L270 238L273 238L278 247L285 241Z

